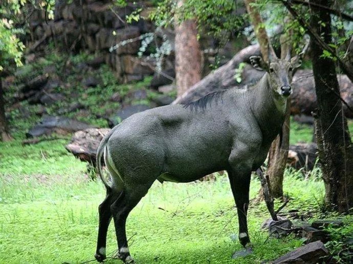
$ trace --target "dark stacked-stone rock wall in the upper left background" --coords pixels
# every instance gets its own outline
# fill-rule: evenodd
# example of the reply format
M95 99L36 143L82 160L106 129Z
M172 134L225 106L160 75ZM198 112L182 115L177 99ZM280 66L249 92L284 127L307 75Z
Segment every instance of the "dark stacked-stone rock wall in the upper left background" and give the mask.
M39 11L31 16L31 43L29 51L42 49L49 39L65 51L86 49L100 54L99 63L105 62L116 72L121 82L140 81L152 75L155 62L139 57L141 34L153 31L153 24L145 19L126 22L126 16L138 8L148 8L148 1L127 3L119 7L113 1L56 1L55 18L46 21ZM112 46L129 40L128 44ZM59 43L58 43L59 42Z

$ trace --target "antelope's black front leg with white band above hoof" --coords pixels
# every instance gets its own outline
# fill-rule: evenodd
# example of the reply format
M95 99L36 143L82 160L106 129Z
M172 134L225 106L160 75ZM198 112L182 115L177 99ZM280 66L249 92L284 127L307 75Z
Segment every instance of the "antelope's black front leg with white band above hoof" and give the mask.
M238 211L239 241L243 247L250 248L247 213L249 206L251 171L240 175L236 171L232 170L231 172L228 172L228 175Z

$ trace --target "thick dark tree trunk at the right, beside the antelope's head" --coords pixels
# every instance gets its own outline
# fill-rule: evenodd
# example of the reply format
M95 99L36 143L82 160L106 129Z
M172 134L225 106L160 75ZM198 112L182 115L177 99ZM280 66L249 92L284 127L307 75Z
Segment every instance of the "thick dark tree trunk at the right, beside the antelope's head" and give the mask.
M312 2L327 5L326 1ZM325 43L330 44L330 15L322 9L310 7L313 11L311 27L323 36ZM353 150L342 102L335 96L340 92L335 62L321 57L323 49L313 38L311 47L318 103L316 137L325 184L325 202L332 209L347 212L353 206Z

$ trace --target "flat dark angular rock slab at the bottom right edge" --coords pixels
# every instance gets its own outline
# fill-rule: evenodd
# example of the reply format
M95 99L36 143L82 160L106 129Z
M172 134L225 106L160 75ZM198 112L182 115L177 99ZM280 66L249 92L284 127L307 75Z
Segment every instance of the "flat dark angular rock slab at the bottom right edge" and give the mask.
M324 244L321 241L316 241L297 248L271 263L322 263L326 256L328 256L328 251Z

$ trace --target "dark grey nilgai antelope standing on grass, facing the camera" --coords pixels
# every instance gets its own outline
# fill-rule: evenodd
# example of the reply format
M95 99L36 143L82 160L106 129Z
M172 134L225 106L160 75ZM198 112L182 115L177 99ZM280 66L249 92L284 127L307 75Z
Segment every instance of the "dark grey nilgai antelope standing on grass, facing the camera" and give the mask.
M254 86L224 89L188 105L162 106L131 115L102 139L97 164L106 198L99 206L98 261L106 258L106 234L113 217L118 257L134 263L127 246L126 218L153 182L191 182L223 170L228 172L237 207L240 243L250 247L247 210L251 172L266 159L281 130L301 54L291 59L287 49L278 59L269 45L269 61L250 57L255 68L266 71ZM109 181L101 175L102 156Z

